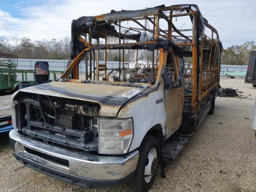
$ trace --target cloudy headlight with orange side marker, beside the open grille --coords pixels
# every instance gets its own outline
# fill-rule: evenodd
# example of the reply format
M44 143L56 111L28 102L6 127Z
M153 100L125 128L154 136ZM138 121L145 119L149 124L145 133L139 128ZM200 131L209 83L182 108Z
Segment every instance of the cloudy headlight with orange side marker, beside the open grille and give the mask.
M132 119L99 119L99 153L124 154L132 141Z

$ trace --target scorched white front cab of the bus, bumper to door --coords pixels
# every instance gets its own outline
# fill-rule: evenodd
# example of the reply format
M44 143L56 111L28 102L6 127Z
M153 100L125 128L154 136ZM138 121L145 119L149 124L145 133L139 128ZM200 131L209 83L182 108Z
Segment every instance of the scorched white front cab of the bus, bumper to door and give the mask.
M170 103L183 100L182 58L171 46L168 51L156 50L156 73L148 77L137 69L137 74L123 72L123 79L133 76L130 82L65 78L82 61L74 59L59 80L16 92L12 103L14 130L10 132L14 156L30 168L89 188L132 180L142 135L150 128L158 127L159 131L163 127L161 137L170 136L182 120L182 105ZM176 80L171 80L172 75ZM163 111L173 118L166 122ZM156 116L151 121L146 120L153 114Z

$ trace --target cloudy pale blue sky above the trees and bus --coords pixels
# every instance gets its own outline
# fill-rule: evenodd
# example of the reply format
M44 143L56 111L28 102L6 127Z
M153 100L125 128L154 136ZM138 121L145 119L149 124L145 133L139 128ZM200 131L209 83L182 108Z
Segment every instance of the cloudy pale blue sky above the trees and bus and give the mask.
M256 42L256 0L0 0L0 36L60 40L71 36L71 22L80 16L189 3L218 30L224 48Z

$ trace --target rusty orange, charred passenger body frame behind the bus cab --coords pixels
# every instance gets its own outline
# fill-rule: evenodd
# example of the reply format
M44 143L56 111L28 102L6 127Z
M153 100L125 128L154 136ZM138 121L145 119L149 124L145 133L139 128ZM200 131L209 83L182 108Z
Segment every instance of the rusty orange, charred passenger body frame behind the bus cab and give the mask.
M174 25L173 18L184 16L190 17L192 24L191 29L178 29ZM168 30L163 30L160 27L160 19L167 22ZM144 26L140 23L141 20L144 20L145 23L149 22L153 25L153 28L150 29ZM134 22L134 24L137 24L141 28L124 27L121 25L123 21ZM124 32L121 33L121 29L123 29ZM210 30L210 37L206 36L204 33L206 29ZM184 32L188 31L192 32L192 36L184 34ZM146 42L139 42L142 32L151 33L152 39ZM178 35L175 35L175 33ZM82 38L82 36L84 36L84 38ZM107 44L109 36L118 38L119 42L117 44ZM105 44L100 44L100 38L105 39ZM96 39L97 43L92 44L92 39ZM124 43L125 40L134 40L136 42ZM158 50L155 50L156 48L162 48L164 50L171 48L174 54L177 54L180 58L182 58L182 56L184 56L184 58L192 58L192 63L185 64L184 67L184 112L182 125L178 130L182 135L192 135L208 112L208 110L206 111L204 109L210 109L211 106L214 107L214 100L216 98L216 92L218 92L220 81L220 55L222 52L222 44L217 30L202 17L198 6L195 4L168 7L161 5L144 10L122 10L120 12L112 10L109 14L80 17L72 22L71 45L72 59L80 56L81 52L85 50L90 52L89 55L86 54L89 58L89 64L86 60L86 79L92 79L92 74L94 74L94 80L99 80L99 71L104 71L106 75L107 70L109 70L106 65L106 52L108 49L119 50L118 69L120 72L125 68L125 49L135 49L137 53L138 49L152 50L152 70L158 67ZM99 64L98 50L105 50L104 64ZM154 63L155 60L156 63ZM62 78L68 78L72 73L72 78L78 79L79 68L77 63L77 60L73 60ZM136 59L136 64L138 68L138 59ZM90 69L89 72L87 71L88 65ZM188 70L189 73L187 73Z

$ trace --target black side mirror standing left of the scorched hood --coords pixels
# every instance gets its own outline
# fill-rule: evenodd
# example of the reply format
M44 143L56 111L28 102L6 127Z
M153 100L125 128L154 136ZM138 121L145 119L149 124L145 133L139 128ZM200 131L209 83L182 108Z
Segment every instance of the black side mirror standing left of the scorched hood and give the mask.
M37 61L34 68L34 80L40 84L49 79L49 64L45 61Z

